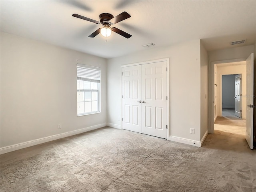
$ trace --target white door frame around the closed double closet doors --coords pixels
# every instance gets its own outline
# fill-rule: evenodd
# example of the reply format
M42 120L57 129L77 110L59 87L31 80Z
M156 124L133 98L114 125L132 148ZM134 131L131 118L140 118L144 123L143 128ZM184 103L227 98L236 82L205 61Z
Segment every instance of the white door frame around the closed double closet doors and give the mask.
M122 68L123 67L129 67L129 66L135 66L135 65L143 65L143 64L150 64L150 63L157 63L157 62L162 62L162 61L166 61L166 67L167 67L167 74L166 74L166 94L167 94L167 114L166 114L166 124L167 124L167 140L169 140L169 135L170 135L170 126L169 126L169 114L170 114L170 110L169 110L169 106L170 106L170 96L169 96L169 58L162 58L162 59L157 59L157 60L150 60L150 61L144 61L144 62L138 62L138 63L132 63L132 64L125 64L125 65L121 65L121 74L122 74ZM123 103L122 103L122 75L121 75L121 129L123 126L122 123L122 107L123 107Z

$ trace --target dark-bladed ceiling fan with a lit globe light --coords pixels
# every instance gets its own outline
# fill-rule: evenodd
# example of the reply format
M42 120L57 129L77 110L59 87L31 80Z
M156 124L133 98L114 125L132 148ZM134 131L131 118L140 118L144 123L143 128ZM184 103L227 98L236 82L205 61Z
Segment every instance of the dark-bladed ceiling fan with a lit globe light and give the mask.
M101 33L102 36L104 36L104 37L108 37L108 36L111 35L112 31L116 32L117 34L122 35L123 37L125 37L127 39L132 36L132 35L124 32L124 31L116 28L116 27L110 27L113 24L116 24L120 21L123 21L123 20L131 17L130 14L128 14L125 11L120 13L118 16L115 16L115 17L112 14L109 14L109 13L102 13L102 14L100 14L100 21L96 21L96 20L81 16L81 15L78 15L78 14L72 14L72 16L76 17L76 18L86 20L86 21L90 21L90 22L93 22L93 23L96 23L96 24L102 24L104 26L103 28L98 28L96 31L94 31L92 34L90 34L88 37L95 37L99 33Z

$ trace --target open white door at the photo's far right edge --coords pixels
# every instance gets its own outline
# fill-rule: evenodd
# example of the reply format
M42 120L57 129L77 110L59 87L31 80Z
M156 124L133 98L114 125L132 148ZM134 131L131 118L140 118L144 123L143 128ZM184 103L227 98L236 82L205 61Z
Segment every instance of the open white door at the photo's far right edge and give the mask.
M246 141L250 148L253 148L253 53L246 60Z

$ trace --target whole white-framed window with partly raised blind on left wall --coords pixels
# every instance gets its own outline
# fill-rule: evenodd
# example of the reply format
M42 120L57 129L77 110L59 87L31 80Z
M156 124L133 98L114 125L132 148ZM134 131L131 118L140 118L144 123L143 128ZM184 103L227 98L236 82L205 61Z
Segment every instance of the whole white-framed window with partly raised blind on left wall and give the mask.
M77 115L100 112L100 70L77 64Z

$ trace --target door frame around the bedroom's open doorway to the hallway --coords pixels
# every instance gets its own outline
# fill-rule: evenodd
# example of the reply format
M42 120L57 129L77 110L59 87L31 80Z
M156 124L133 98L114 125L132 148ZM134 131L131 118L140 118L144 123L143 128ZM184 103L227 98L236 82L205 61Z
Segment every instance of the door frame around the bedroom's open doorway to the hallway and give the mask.
M215 64L225 64L231 62L242 62L246 61L247 58L240 58L240 59L229 59L229 60L220 60L220 61L212 61L209 67L210 75L209 75L209 118L208 121L208 133L214 134L214 65Z

